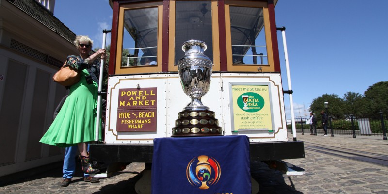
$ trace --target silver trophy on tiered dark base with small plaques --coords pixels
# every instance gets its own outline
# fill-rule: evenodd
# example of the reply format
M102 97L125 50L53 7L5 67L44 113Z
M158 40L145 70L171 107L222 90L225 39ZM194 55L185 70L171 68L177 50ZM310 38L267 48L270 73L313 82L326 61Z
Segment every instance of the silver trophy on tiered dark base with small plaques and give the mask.
M206 49L200 40L189 40L182 45L185 55L178 61L178 72L182 89L191 97L191 102L178 113L173 137L221 135L214 112L201 101L209 91L213 71L213 63L204 55Z

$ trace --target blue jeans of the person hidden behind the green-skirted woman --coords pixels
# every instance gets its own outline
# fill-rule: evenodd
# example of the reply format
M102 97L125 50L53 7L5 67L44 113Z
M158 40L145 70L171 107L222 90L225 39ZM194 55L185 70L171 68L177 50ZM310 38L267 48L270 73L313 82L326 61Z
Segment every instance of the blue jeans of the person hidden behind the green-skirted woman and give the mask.
M71 146L71 147L65 148L64 167L62 169L62 172L64 173L62 177L64 179L73 178L74 171L76 170L75 157L77 155L77 151L78 151L78 146ZM89 177L89 174L83 173L83 176Z

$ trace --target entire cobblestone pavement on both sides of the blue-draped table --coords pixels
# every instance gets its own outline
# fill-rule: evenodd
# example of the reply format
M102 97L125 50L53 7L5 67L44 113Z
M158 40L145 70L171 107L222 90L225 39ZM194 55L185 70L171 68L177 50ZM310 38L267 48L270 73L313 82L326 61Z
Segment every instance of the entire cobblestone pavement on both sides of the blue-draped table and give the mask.
M289 134L292 140L292 135ZM305 147L315 144L343 147L388 157L388 141L382 137L310 136L297 134ZM252 177L258 181L258 194L388 194L388 167L343 159L305 150L306 158L285 160L304 168L305 175L284 175L262 162L251 164ZM81 168L81 167L80 167ZM77 169L78 170L78 169ZM36 176L2 185L0 194L136 194L135 183L143 173L144 163L131 163L99 183L83 181L77 171L68 187L60 187L62 167Z

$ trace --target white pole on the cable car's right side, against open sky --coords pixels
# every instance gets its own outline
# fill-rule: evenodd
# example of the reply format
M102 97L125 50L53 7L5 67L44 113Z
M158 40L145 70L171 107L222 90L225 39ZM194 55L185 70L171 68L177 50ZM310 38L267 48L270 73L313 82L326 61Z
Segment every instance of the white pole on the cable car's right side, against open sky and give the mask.
M287 71L287 82L288 82L288 89L291 91L289 93L290 95L290 109L291 109L291 126L292 126L292 135L294 141L296 141L296 127L295 127L295 116L294 116L294 106L293 106L293 100L292 100L292 88L291 88L291 76L290 76L290 64L288 60L288 52L287 52L287 41L286 41L286 28L281 27L279 30L282 31L282 37L283 37L283 48L284 48L284 57L286 59L286 71Z

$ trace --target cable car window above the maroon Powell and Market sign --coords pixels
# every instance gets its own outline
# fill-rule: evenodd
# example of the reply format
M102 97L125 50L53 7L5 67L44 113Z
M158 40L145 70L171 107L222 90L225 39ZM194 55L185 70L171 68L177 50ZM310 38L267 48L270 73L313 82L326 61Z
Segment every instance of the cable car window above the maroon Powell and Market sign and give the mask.
M124 12L121 66L157 65L158 8Z

